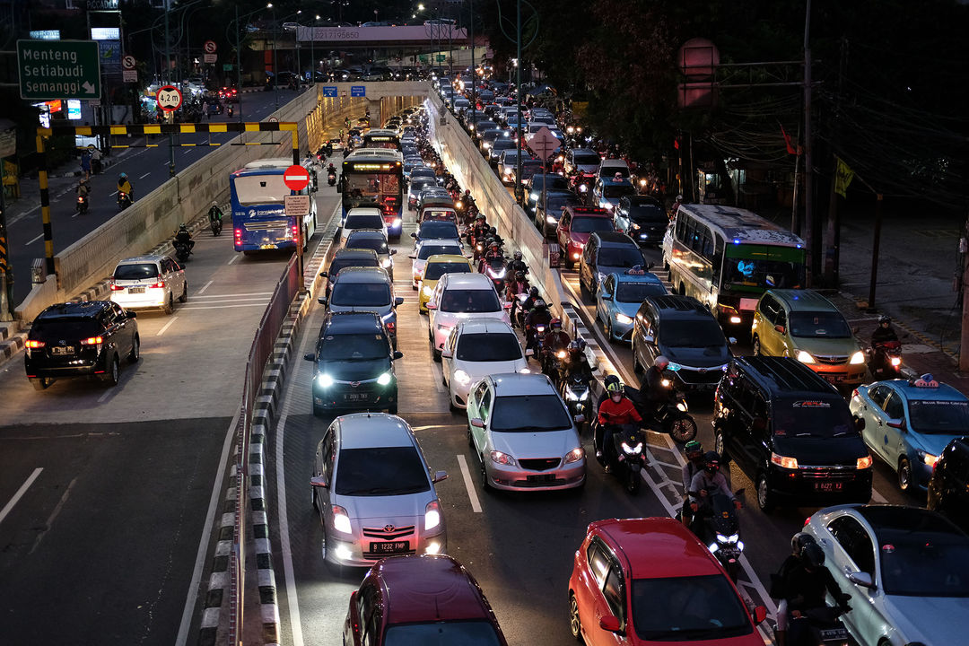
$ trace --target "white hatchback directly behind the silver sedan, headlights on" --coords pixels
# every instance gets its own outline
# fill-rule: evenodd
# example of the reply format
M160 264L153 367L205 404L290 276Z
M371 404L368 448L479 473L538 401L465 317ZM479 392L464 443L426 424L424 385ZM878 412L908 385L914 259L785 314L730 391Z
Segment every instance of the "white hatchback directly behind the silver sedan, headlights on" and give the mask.
M515 330L504 321L457 323L441 357L453 409L466 408L471 385L488 375L531 372Z

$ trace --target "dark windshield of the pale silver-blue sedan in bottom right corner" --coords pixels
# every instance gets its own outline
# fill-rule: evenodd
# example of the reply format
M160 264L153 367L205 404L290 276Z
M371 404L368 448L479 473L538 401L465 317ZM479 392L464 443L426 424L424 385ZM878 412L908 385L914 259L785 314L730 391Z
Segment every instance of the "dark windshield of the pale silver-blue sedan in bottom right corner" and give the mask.
M878 532L888 595L969 597L969 538L917 528Z

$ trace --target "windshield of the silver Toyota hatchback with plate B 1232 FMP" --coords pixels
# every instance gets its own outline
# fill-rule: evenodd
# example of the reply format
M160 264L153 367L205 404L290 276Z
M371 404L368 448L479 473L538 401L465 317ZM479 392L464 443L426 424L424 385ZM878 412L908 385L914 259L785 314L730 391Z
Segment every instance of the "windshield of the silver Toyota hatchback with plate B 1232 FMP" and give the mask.
M333 491L340 496L403 496L430 489L414 446L344 448L336 463Z

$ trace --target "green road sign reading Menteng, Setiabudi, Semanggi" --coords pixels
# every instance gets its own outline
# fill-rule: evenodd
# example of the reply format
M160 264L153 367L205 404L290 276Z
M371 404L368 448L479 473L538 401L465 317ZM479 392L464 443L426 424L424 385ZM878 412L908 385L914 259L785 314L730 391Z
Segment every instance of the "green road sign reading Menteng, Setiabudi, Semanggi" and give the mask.
M21 99L101 98L96 41L17 41L16 71Z

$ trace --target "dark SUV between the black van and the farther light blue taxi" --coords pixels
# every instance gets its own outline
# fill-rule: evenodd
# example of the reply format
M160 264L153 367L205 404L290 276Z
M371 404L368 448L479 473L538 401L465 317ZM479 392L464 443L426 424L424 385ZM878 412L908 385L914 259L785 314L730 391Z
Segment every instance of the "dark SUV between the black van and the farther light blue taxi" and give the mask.
M642 372L662 354L677 387L713 390L730 361L723 329L693 296L646 296L633 323L633 368Z

